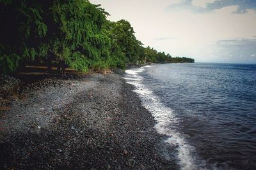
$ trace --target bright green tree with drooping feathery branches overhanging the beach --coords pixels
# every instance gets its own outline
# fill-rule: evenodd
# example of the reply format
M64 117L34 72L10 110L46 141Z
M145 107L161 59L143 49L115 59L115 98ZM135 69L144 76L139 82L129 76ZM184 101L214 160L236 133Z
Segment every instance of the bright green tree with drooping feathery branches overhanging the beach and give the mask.
M54 25L60 31L58 38L51 37L53 51L56 55L62 53L66 63L79 71L88 70L89 60L100 60L109 55L110 39L102 31L106 15L98 7L77 0L54 1L50 8Z

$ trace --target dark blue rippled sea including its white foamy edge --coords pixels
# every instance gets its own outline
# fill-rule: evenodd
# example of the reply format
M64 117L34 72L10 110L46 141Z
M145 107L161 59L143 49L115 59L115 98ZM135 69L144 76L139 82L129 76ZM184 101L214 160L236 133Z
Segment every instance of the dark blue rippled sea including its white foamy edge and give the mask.
M152 64L124 78L180 169L256 169L256 65Z

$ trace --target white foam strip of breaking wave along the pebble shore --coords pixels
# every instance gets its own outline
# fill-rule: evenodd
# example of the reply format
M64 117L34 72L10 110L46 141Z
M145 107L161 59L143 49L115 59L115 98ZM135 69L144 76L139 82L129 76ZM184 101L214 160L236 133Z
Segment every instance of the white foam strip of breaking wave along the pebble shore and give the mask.
M175 117L175 113L173 113L170 108L164 106L157 96L154 96L153 92L148 90L141 81L137 81L138 79L143 80L143 77L138 74L143 70L144 69L129 69L125 71L125 73L127 73L125 75L127 83L136 87L134 91L141 97L143 106L145 106L145 108L147 108L147 110L154 116L157 121L155 126L157 132L170 136L170 138L166 140L166 143L177 146L177 157L181 169L200 169L196 166L191 153L194 148L182 138L182 135L179 132L170 128L173 124L176 124L177 121L179 121L177 120L177 117Z

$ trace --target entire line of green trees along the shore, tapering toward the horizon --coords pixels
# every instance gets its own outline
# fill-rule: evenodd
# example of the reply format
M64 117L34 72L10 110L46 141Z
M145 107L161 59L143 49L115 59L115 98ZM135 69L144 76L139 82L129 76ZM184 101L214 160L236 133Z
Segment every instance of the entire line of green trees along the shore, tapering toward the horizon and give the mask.
M0 72L26 65L77 71L124 68L145 62L194 62L143 47L126 20L88 0L0 0Z

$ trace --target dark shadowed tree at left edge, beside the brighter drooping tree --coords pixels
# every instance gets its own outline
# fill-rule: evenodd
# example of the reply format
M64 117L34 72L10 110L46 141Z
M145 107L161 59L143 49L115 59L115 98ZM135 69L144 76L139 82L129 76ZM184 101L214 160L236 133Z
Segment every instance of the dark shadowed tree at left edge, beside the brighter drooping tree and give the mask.
M47 49L42 40L47 25L42 18L42 8L37 1L2 0L1 8L1 72L15 71L20 61L45 57Z

